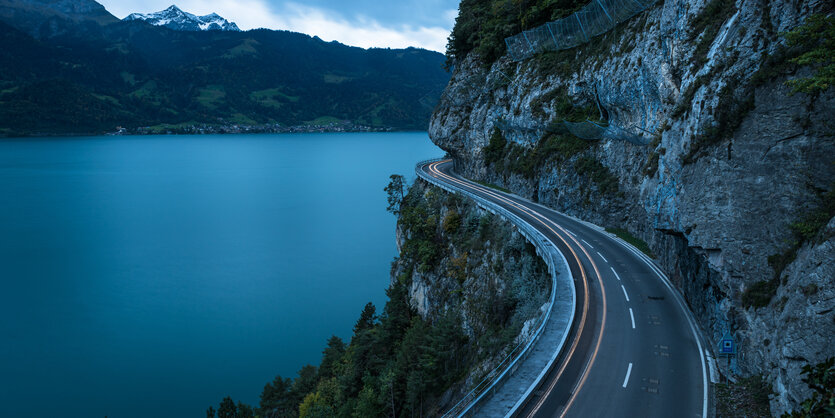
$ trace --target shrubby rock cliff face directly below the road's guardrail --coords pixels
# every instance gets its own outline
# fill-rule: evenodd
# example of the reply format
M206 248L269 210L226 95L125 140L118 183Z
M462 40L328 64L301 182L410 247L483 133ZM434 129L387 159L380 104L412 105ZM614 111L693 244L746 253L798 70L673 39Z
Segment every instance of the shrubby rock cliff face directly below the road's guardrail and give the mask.
M392 280L407 285L409 304L430 323L459 318L468 337L467 376L433 402L443 412L527 342L548 301L548 268L512 224L422 180L402 205L397 245Z

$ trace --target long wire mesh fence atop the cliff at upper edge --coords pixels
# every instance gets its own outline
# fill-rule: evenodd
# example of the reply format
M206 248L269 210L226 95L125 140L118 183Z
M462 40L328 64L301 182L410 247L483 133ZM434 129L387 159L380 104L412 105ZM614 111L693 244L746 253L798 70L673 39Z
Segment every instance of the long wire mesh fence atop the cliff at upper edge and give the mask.
M521 61L546 51L574 48L612 30L658 0L593 0L571 16L505 38L507 52Z

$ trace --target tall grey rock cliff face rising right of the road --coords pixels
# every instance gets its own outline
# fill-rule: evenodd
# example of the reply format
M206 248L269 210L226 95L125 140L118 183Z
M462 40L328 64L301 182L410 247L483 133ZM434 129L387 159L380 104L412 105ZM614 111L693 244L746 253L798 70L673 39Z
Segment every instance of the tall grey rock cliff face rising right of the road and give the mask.
M737 1L707 14L717 1L661 1L518 63L470 53L430 136L463 175L646 240L711 341L738 342L723 373L763 374L779 414L808 395L801 366L835 353L833 222L777 279L772 267L791 251L790 225L835 184L835 94L792 94L786 80L810 70L780 66L779 34L832 6ZM554 129L572 107L647 145Z

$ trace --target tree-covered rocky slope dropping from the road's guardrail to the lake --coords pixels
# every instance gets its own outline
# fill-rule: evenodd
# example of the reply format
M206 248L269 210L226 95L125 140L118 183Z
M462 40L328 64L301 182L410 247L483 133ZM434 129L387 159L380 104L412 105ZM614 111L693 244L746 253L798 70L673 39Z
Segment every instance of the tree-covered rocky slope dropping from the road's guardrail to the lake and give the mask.
M382 313L368 303L347 344L331 337L318 367L276 376L258 408L225 398L207 416L434 415L449 402L441 400L448 389L466 391L465 377L480 380L478 365L512 348L547 298L547 267L509 224L472 202L423 182L405 196L403 188L403 178L391 176L388 203L404 239ZM410 294L414 280L431 281L433 304L444 308L421 315Z

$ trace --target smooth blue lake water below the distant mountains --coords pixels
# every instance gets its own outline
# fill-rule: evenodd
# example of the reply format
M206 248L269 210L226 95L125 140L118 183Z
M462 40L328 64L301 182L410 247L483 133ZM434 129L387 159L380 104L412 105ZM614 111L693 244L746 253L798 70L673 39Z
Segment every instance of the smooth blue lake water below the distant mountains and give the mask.
M0 415L257 404L382 309L382 189L438 155L425 133L0 141Z

